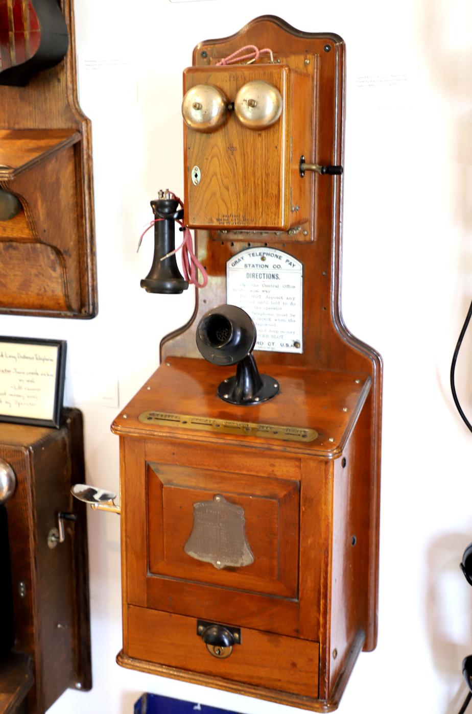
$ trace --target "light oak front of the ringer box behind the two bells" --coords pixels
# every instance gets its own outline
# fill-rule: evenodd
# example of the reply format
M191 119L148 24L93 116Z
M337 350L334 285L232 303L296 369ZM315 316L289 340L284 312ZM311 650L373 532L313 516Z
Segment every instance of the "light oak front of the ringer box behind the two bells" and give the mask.
M189 226L286 230L291 213L291 71L288 66L258 64L184 72L184 91L211 84L229 101L249 81L264 81L281 94L280 119L262 131L243 126L234 111L209 134L184 124L185 222ZM201 181L191 180L194 166Z

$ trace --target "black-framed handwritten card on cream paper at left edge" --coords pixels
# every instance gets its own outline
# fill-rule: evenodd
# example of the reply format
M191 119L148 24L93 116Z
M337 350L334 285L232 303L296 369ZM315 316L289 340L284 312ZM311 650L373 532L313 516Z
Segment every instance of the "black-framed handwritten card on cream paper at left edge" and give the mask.
M0 336L0 421L59 428L66 346Z

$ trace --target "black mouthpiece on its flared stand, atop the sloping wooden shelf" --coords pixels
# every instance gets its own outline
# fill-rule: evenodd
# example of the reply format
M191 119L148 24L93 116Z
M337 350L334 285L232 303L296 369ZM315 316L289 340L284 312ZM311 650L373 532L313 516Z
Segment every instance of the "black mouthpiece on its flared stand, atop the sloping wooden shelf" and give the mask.
M251 354L256 344L256 326L248 313L235 305L209 310L196 328L196 346L212 364L237 364L236 376L221 382L217 394L231 404L251 405L278 394L278 381L260 374Z

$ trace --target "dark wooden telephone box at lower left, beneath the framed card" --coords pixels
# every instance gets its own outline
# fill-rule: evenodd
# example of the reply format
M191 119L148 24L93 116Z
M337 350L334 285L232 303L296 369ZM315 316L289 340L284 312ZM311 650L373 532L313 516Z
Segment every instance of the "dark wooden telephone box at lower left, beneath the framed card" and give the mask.
M91 687L86 515L70 493L84 481L80 412L64 410L59 429L0 424L0 456L17 481L6 502L14 650L31 658L26 711L41 713L76 682ZM64 543L51 549L49 531L61 511L78 520L66 523Z

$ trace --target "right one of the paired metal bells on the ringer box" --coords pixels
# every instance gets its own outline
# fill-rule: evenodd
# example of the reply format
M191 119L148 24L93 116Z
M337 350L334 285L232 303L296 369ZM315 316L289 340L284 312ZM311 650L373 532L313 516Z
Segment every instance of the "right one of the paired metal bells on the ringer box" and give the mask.
M275 124L282 107L281 93L261 79L244 84L234 100L234 112L248 129L266 129Z

